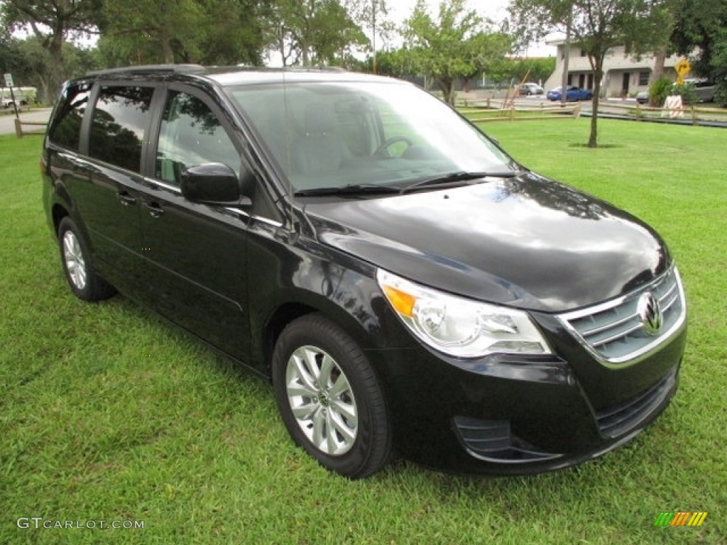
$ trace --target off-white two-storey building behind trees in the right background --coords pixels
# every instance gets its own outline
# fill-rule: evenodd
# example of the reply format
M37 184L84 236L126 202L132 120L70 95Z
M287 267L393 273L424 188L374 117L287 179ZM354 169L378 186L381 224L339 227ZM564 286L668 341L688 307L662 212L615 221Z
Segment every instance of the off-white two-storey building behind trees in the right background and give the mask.
M552 42L558 47L558 57L555 61L555 71L545 82L545 89L558 87L563 81L563 60L565 59L566 44L564 41ZM672 55L664 60L664 76L676 79L674 66L681 59ZM603 61L603 81L601 82L601 97L633 97L639 91L648 89L651 73L654 72L654 55L641 55L634 57L627 54L623 46L612 47L608 50ZM593 69L588 56L577 45L571 45L568 62L568 84L593 90Z

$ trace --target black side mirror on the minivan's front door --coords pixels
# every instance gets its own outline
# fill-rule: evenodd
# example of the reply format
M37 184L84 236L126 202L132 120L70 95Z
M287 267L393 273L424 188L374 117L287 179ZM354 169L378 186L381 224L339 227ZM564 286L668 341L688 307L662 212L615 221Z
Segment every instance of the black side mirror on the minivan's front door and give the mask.
M188 166L182 171L180 189L184 198L196 203L230 206L251 203L242 195L235 171L222 163Z

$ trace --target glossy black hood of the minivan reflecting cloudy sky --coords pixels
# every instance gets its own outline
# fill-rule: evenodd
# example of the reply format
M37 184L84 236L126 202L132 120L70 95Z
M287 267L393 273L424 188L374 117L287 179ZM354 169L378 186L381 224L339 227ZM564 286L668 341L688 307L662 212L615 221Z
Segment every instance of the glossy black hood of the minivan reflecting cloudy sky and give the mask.
M382 198L306 199L321 243L419 283L562 312L648 283L670 262L658 235L537 174Z

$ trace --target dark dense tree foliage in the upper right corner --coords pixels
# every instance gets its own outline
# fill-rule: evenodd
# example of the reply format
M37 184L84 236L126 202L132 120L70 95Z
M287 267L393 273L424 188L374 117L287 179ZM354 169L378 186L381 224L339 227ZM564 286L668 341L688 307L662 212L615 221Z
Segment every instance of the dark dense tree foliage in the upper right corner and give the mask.
M694 73L718 86L715 100L727 104L727 2L678 0L672 44L687 55Z

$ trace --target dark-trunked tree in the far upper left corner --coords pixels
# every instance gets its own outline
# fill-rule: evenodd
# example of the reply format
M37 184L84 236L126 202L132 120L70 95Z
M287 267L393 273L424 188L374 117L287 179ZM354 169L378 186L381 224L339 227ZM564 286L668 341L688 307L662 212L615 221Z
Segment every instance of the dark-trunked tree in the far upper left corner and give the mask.
M0 12L4 26L30 29L48 52L48 88L55 94L68 77L63 44L75 35L94 33L100 7L101 0L4 0Z

